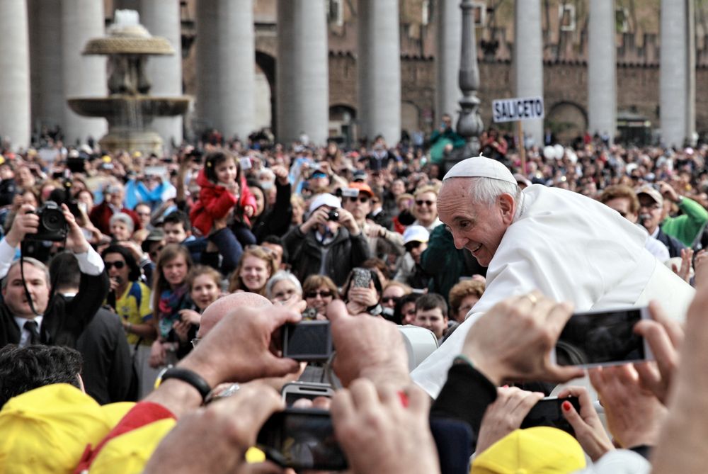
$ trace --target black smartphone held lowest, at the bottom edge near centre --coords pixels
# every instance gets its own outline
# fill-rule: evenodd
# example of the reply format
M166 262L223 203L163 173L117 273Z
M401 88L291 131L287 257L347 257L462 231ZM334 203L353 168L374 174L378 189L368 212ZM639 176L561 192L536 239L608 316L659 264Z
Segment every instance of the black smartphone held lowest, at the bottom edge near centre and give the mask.
M265 422L256 441L270 461L286 468L345 470L332 419L326 410L286 408Z

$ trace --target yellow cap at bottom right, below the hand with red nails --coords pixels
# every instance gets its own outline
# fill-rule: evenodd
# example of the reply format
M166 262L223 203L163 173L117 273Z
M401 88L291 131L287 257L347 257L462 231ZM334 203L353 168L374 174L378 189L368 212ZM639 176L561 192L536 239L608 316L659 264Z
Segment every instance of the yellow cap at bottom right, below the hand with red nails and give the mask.
M573 436L557 428L517 429L479 453L470 474L561 474L586 467Z

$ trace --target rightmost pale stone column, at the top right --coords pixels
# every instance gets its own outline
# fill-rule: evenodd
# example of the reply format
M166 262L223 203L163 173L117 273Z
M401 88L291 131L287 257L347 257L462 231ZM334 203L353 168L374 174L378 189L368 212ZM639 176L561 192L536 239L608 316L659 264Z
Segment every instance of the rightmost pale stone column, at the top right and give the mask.
M661 0L659 100L661 142L681 147L695 130L693 18L687 0ZM692 47L694 45L694 47Z

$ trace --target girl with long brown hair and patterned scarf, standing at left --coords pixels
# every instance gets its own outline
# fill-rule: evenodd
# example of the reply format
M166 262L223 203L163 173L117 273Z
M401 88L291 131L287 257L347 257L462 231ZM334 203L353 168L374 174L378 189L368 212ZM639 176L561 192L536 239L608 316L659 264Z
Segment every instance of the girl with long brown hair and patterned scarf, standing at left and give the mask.
M193 306L187 283L191 268L189 250L179 244L167 245L157 259L152 286L152 321L157 329L150 354L152 367L176 363L179 340L173 327L181 321L181 310Z

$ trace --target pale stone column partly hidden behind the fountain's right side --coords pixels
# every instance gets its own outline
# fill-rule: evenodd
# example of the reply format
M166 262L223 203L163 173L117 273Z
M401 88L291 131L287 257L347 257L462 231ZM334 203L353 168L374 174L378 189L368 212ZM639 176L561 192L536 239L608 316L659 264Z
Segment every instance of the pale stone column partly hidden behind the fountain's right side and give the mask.
M145 74L152 81L153 96L176 97L182 95L182 32L180 6L176 0L142 0L140 23L153 36L167 38L175 50L173 56L152 56L147 60ZM152 128L162 137L166 151L171 143L182 142L182 117L158 117Z

